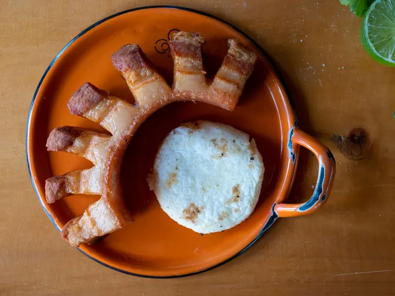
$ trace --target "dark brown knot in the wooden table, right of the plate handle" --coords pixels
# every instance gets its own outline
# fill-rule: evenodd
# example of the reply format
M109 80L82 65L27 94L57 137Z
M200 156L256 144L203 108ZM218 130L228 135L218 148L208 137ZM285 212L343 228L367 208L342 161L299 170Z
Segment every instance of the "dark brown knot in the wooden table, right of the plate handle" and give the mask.
M365 158L372 146L368 132L360 127L352 129L347 137L334 134L331 140L343 155L353 160Z

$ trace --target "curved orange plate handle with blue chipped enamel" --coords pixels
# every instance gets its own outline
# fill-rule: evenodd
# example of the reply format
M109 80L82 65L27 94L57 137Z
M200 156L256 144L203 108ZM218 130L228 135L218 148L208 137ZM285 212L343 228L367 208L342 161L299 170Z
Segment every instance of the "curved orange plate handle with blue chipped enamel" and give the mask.
M333 185L336 162L332 152L309 134L295 128L292 144L301 145L311 150L318 159L318 179L313 196L305 203L276 204L278 217L296 217L314 213L327 200Z

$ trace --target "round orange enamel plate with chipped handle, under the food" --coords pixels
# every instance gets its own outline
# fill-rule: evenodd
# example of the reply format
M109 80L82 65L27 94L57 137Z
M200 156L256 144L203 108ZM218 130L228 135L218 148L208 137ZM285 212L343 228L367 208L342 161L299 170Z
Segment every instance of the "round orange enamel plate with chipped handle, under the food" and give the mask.
M126 83L110 59L125 43L138 43L171 84L173 62L168 35L173 30L199 32L207 39L203 61L210 76L221 65L229 38L237 38L255 51L258 61L235 111L203 103L173 103L149 117L127 149L121 185L133 222L96 244L81 245L79 249L119 271L151 277L194 274L232 259L278 217L310 214L326 202L335 173L332 153L299 129L280 80L248 37L215 18L190 10L151 7L126 11L98 22L67 44L48 67L32 102L27 130L29 169L40 203L59 229L82 215L99 196L73 195L51 205L45 202L47 178L91 166L77 155L48 152L45 143L49 132L63 125L102 131L100 126L72 115L67 109L68 100L84 82L133 103ZM195 119L223 122L250 134L265 164L255 211L246 221L220 233L200 235L171 220L160 209L146 182L162 139L182 122ZM320 169L316 190L306 203L284 204L295 175L300 145L317 156Z

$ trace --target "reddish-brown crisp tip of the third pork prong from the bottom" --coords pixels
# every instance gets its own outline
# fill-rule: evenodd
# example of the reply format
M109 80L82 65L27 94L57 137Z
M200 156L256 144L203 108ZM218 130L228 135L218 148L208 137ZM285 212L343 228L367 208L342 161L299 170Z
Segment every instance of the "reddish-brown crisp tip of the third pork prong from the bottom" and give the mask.
M73 145L76 138L78 138L84 131L82 128L73 126L63 126L55 128L46 141L48 151L64 151L67 147Z

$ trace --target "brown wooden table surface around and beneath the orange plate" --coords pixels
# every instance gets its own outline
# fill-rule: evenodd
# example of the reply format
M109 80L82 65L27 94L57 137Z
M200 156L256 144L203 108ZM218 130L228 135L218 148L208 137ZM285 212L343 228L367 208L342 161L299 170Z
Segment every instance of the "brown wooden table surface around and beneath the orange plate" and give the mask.
M338 164L316 214L280 219L219 268L166 280L118 273L61 239L25 160L29 105L53 57L97 20L158 4L208 12L256 40L301 127ZM395 69L364 52L360 19L338 0L0 0L0 15L0 295L395 295ZM306 200L316 183L316 160L302 152L293 201Z

